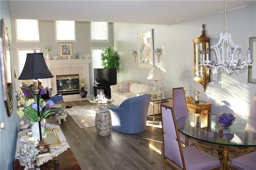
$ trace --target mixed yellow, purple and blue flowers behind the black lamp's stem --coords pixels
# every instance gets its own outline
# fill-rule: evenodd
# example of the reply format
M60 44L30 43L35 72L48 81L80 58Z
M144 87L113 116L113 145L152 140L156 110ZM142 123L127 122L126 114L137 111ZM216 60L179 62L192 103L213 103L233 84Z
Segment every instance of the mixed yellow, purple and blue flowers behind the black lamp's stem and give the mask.
M39 98L39 111L41 120L45 119L53 113L51 107L54 105L54 102L51 100L45 102L43 99L41 99L42 94L44 94L43 90L40 91ZM19 109L17 110L17 114L19 117L22 117L23 115L28 117L31 122L37 122L37 103L35 99L28 99L28 93L24 93L24 95L26 96L26 100L23 102L18 102Z

